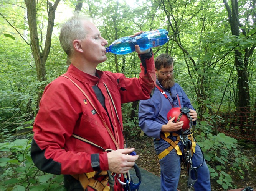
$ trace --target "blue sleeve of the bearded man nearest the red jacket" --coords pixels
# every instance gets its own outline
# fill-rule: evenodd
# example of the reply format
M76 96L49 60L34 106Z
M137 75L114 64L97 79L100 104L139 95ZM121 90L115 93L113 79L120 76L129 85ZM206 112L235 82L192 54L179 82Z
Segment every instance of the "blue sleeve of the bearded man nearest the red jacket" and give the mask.
M159 108L156 104L154 104L154 102L152 102L152 98L147 100L140 100L139 126L142 131L147 134L147 136L160 138L162 123L157 122Z

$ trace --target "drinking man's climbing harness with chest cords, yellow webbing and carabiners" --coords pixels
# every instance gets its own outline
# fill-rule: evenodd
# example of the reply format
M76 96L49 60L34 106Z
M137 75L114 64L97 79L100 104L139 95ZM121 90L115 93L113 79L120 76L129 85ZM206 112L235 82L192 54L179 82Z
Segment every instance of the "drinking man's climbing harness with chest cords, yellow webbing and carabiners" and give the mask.
M97 109L96 107L92 104L91 100L89 99L89 97L86 95L86 93L83 91L83 89L81 89L80 86L78 86L78 84L76 84L72 79L70 79L68 76L64 76L64 75L61 75L67 79L69 79L76 87L78 87L78 89L84 94L84 96L86 97L86 99L88 100L88 102L92 105L92 107L94 108L94 110L97 112ZM106 84L103 83L104 86L106 87L106 90L107 90L107 95L108 95L108 100L109 100L109 105L111 107L111 104L110 104L110 100L112 102L112 105L114 107L114 111L116 113L116 116L117 116L117 119L119 121L119 125L121 126L121 122L119 120L119 117L118 117L118 114L117 114L117 110L116 110L116 107L115 107L115 104L114 104L114 100L112 99L112 96L109 92L109 89L107 88ZM113 110L112 110L112 107L111 107L111 112L112 112L112 115L113 115ZM99 114L99 112L97 112ZM115 146L117 149L119 149L119 144L117 143L116 139L114 138L113 134L111 133L109 127L107 126L106 122L103 120L103 118L101 117L101 115L99 115L99 117L101 118L102 120L102 123L104 124L104 126L106 127L107 129L107 132L109 133L109 135L111 136ZM116 125L116 121L114 121L115 125ZM116 125L117 126L117 125ZM123 132L122 132L123 133ZM109 151L114 151L113 149L104 149L103 147L95 144L94 142L91 142L81 136L78 136L76 134L72 134L72 136L76 139L79 139L83 142L86 142L88 144L91 144L93 146L96 146L98 148L101 148L103 151L106 151L106 152L109 152ZM123 133L123 136L124 136L124 133ZM126 144L126 139L124 137L124 148L127 148L127 144ZM137 191L139 189L139 186L140 186L140 183L141 183L141 175L140 175L140 169L139 167L135 164L134 165L134 169L135 169L135 172L136 172L136 176L139 178L139 183L135 184L133 183L132 181L132 178L130 177L130 172L128 170L127 173L124 174L124 179L126 180L125 183L123 183L121 181L121 174L118 175L118 182L121 183L122 185L124 185L124 187L127 189L127 191ZM107 176L106 176L107 175ZM81 186L83 187L83 189L85 190L88 186L96 189L97 191L113 191L114 190L114 184L115 184L115 180L114 180L114 177L116 176L116 174L112 174L109 170L107 171L93 171L93 172L89 172L89 173L83 173L83 174L79 174L79 175L71 175L73 176L76 180L78 180L81 184ZM95 180L94 177L101 177L101 176L106 176L103 180L101 181L98 181L98 180ZM107 185L107 183L109 184L109 186Z

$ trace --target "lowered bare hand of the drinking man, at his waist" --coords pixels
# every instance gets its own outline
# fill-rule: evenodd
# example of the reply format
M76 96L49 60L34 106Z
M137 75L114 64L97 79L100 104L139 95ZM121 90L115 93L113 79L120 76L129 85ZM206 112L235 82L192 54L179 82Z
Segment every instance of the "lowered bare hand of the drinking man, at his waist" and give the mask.
M129 169L135 164L135 160L139 158L139 155L127 155L134 151L131 149L117 149L107 153L107 159L109 162L109 170L117 174L127 173Z

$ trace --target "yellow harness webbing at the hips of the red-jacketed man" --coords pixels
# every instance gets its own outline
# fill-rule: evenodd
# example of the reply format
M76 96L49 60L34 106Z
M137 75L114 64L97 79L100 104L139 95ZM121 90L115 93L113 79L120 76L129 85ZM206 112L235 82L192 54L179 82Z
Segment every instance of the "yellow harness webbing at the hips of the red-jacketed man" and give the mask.
M97 190L97 191L109 191L110 187L107 185L109 177L107 175L107 171L102 171L98 176L106 176L102 181L95 180L93 177L95 176L96 171L83 173L79 175L71 175L76 180L78 180L85 190L88 186Z

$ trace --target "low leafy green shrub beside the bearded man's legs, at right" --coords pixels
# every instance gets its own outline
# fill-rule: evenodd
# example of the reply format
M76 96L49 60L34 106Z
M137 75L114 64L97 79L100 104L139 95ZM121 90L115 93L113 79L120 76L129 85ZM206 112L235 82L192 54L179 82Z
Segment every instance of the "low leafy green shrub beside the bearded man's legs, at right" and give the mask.
M199 126L206 129L208 124L201 121ZM205 160L208 161L211 178L216 180L225 190L234 188L236 185L232 185L233 180L228 172L235 172L242 179L244 170L249 169L249 161L241 155L238 141L224 133L213 135L209 131L207 133L201 132L197 141L204 153ZM216 168L213 168L214 166Z

